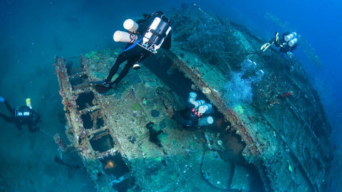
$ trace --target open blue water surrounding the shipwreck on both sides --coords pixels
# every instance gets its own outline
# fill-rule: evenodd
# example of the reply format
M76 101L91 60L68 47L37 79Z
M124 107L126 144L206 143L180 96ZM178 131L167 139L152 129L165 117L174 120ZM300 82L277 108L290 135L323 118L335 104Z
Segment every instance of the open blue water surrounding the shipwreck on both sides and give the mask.
M31 134L27 129L19 132L14 125L0 120L0 191L94 191L84 171L70 171L53 161L57 146L51 134L64 131L64 124L58 119L63 107L53 74L54 57L117 47L113 32L122 29L125 18L178 7L182 2L192 1L0 2L0 95L14 107L24 105L25 98L31 97L33 107L42 114L46 133ZM311 63L300 46L294 55L303 63L321 97L333 127L332 139L341 150L342 2L194 2L205 11L244 24L267 40L274 31L283 30L265 17L269 12L311 44L321 66ZM5 108L1 105L0 110Z

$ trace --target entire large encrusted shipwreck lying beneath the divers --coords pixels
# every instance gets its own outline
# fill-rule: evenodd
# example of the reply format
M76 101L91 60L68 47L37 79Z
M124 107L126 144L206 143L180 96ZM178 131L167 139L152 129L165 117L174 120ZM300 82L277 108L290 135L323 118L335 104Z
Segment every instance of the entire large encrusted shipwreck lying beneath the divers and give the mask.
M88 82L105 79L120 50L56 58L66 135L98 191L326 191L331 127L301 64L260 53L266 41L198 7L168 15L172 48L103 95ZM245 58L264 76L252 102L233 103L226 84ZM172 119L182 82L214 105L213 125Z

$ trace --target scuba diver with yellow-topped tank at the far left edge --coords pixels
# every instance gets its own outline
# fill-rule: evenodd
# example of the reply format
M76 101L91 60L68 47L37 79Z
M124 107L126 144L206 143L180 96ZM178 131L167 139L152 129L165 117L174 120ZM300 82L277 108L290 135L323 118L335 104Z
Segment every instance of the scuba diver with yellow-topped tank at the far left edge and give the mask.
M16 124L16 127L18 127L19 130L21 130L21 126L25 124L28 126L28 130L30 130L30 132L36 132L40 130L40 128L36 127L36 125L41 121L41 118L37 112L32 110L30 98L26 99L26 105L16 109L12 108L7 100L5 100L3 97L0 97L0 102L4 102L7 110L9 110L9 113L12 114L11 116L7 116L6 114L0 113L0 117L6 120L6 122Z

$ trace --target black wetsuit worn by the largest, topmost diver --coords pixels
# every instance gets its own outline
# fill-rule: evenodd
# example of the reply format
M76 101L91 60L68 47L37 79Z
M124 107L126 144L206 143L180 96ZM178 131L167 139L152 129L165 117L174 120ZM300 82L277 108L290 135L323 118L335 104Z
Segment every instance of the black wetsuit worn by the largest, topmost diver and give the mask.
M133 67L135 63L140 63L140 61L144 60L148 56L152 55L153 53L149 50L142 48L140 45L138 45L138 42L141 41L142 35L145 35L145 32L147 31L147 28L150 26L150 23L155 19L155 17L162 16L162 12L158 11L155 14L144 14L144 19L138 20L137 23L139 25L137 34L140 36L139 40L135 43L128 43L125 50L123 50L123 53L120 53L118 55L118 58L116 58L115 63L113 67L110 69L110 73L105 80L104 84L108 84L110 80L112 80L115 73L118 72L119 66L121 63L125 62L127 60L127 63L123 70L121 71L118 78L116 78L111 84L116 85L118 82L120 82L125 75L127 75L130 68ZM167 34L165 38L165 41L162 43L161 48L169 49L171 46L171 31Z

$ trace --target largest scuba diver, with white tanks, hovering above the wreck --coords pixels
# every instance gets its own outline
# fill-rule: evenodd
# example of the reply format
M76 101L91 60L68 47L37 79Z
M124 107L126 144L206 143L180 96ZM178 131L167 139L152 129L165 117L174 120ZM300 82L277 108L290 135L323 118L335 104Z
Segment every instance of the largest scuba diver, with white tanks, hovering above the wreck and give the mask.
M136 23L132 19L127 19L123 27L128 31L115 31L113 39L115 42L127 43L118 58L116 58L110 73L105 80L95 82L95 90L103 93L116 87L130 68L140 68L139 63L150 55L157 53L158 48L169 49L171 46L171 26L170 19L157 11L153 14L143 14L144 19ZM111 82L121 63L125 62L125 67L118 78Z

